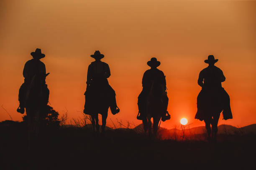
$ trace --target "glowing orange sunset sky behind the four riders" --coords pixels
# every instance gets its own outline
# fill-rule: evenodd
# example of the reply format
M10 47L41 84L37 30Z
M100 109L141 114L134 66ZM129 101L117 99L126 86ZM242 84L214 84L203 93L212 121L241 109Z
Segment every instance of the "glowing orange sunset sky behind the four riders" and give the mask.
M49 101L60 114L82 117L87 67L95 50L110 66L120 113L110 118L136 125L137 97L143 72L151 57L161 61L166 75L173 128L187 117L195 120L197 78L213 54L226 77L233 120L220 124L256 123L256 1L194 0L1 0L0 2L0 105L13 120L22 71L30 53L41 48L46 57ZM0 121L10 119L0 108Z

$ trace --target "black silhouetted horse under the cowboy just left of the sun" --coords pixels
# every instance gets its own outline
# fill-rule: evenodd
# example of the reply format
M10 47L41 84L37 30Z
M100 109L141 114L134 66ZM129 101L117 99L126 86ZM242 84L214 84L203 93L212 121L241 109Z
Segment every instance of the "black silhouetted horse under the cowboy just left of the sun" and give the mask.
M152 135L152 122L153 118L153 130L154 137L157 135L158 125L162 115L166 112L164 110L164 102L162 99L163 94L166 94L165 88L162 85L156 85L154 81L151 84L150 92L146 97L146 117L142 120L144 132L148 130L148 135Z

